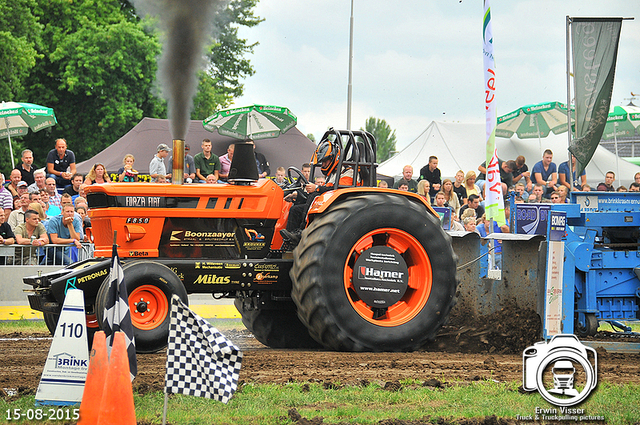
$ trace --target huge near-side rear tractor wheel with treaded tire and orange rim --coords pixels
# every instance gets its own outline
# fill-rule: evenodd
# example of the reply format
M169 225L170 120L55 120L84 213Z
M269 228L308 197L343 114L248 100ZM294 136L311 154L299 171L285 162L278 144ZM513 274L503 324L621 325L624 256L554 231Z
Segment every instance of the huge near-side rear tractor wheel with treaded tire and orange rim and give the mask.
M355 258L378 246L400 254L409 275L402 299L382 317L352 283ZM450 237L424 205L404 195L368 193L337 201L304 230L293 254L298 316L315 340L333 350L416 350L435 338L456 302Z

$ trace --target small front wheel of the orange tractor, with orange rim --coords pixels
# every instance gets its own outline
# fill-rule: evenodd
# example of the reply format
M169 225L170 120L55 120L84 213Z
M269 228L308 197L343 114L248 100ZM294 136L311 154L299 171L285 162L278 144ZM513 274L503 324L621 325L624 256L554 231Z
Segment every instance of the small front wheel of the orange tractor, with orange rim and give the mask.
M155 353L167 346L172 295L178 295L182 302L189 305L187 291L180 278L160 263L134 261L125 264L122 270L129 295L136 353ZM96 296L96 315L100 328L103 328L108 288L107 278ZM138 303L144 304L144 311L142 307L137 307Z

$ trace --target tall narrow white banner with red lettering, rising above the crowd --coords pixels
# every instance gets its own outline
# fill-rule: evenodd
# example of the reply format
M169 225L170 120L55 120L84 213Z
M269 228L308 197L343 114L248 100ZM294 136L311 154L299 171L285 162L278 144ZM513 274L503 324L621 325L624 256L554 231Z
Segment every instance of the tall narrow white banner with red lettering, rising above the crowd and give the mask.
M493 58L493 31L491 29L491 7L489 0L484 0L483 53L484 53L484 93L486 111L486 168L487 182L485 183L485 210L488 219L495 220L499 225L506 224L504 217L504 198L502 196L502 181L500 179L500 165L498 150L496 149L496 71Z

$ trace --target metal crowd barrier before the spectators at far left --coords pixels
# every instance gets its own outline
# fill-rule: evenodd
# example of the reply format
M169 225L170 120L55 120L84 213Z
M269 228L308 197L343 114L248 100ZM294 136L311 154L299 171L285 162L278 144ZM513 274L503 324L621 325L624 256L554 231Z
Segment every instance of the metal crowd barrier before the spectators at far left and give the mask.
M0 246L0 267L19 265L64 266L93 257L94 245L83 242L82 248L69 244L49 244L41 247L30 245Z

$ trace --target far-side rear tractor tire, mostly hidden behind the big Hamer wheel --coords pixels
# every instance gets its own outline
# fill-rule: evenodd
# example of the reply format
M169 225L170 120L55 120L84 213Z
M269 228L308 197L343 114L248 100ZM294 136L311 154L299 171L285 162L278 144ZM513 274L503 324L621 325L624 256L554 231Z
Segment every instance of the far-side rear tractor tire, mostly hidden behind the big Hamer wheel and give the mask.
M283 303L285 304L285 303ZM261 344L271 348L321 348L300 322L295 305L278 310L246 309L240 298L234 301L242 323Z

